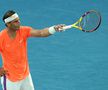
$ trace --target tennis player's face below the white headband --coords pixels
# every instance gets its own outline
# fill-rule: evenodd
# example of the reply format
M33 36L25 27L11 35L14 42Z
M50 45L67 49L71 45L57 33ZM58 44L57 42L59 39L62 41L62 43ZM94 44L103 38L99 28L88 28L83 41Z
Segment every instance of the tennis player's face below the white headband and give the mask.
M8 27L12 30L18 30L20 28L20 20L16 18L15 20L8 23Z

